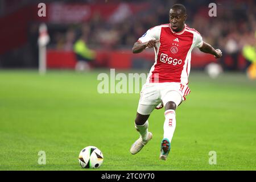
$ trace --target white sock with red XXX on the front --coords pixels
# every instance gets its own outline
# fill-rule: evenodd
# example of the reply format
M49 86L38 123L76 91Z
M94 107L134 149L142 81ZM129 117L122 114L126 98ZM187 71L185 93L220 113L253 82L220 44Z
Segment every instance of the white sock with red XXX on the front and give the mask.
M164 138L167 138L170 142L174 135L176 127L175 110L169 109L164 112L166 120L164 121Z

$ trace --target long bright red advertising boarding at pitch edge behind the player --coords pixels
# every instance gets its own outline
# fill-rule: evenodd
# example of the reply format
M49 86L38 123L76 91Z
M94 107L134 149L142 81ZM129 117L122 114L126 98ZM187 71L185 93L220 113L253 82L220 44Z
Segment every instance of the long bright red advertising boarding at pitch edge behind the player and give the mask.
M154 64L154 52L144 51L134 54L130 49L127 50L98 50L95 63L100 67L131 69L134 61L148 61L150 65ZM122 60L122 61L120 61ZM205 65L216 62L213 55L205 53L192 52L191 68L204 68ZM47 51L47 67L48 68L66 68L74 69L77 63L76 55L73 51L57 51L49 49Z

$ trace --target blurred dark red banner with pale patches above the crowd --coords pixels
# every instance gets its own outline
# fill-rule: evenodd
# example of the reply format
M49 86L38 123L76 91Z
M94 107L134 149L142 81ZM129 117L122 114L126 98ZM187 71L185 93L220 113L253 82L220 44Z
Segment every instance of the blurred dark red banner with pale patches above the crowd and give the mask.
M148 3L51 3L48 5L48 22L80 23L86 22L94 14L100 14L102 19L114 23L147 9L148 6Z

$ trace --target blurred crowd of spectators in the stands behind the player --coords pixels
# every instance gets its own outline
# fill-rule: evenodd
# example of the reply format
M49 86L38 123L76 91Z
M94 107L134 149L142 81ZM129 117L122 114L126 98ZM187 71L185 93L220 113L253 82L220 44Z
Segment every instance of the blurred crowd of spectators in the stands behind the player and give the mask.
M144 1L150 2L150 7L137 14L125 9L127 1L122 2L121 17L104 21L100 13L95 13L88 22L69 25L64 27L65 31L51 30L50 47L72 50L76 40L82 37L93 49L131 48L149 28L169 23L168 12L174 3L183 3L187 8L187 26L195 28L205 42L234 59L243 46L256 42L256 3L253 0L216 1L216 17L208 15L212 1Z

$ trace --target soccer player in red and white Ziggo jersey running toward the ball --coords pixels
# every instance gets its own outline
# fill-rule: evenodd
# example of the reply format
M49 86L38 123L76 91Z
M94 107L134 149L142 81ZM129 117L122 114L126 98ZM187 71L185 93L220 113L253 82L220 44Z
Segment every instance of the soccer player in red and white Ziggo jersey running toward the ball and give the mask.
M203 42L199 32L185 24L186 19L185 7L176 4L170 9L170 23L150 28L134 43L133 53L154 48L155 63L142 86L135 118L135 128L141 136L131 146L131 154L141 151L152 138L152 133L148 132L147 119L156 107L162 105L165 108L165 121L160 159L167 159L176 127L176 107L190 93L188 76L192 49L198 47L200 51L210 53L215 58L222 56L220 49L214 49Z

